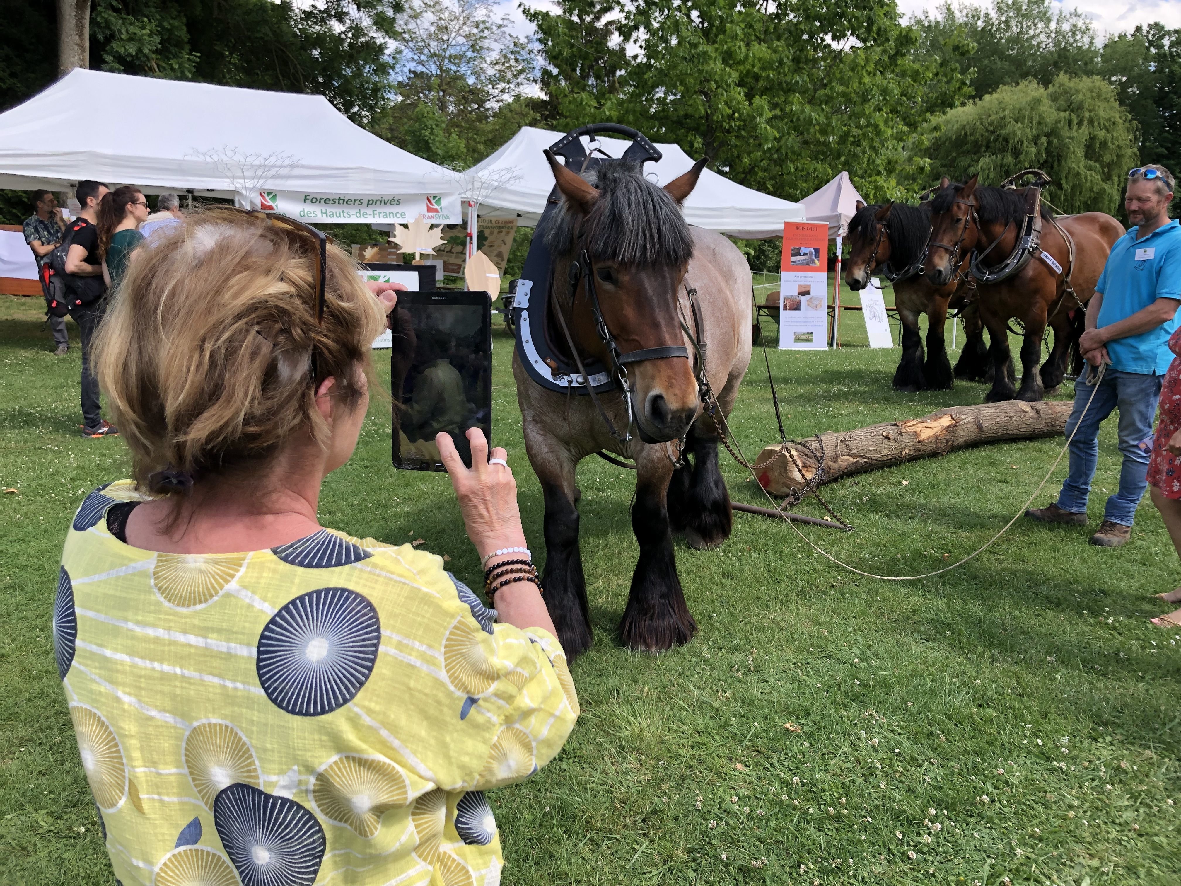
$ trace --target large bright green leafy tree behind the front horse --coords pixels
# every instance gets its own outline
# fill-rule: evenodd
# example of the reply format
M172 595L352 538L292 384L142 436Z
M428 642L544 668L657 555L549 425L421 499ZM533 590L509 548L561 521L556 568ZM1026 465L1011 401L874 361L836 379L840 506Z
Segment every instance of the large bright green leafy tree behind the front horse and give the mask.
M628 123L788 197L842 169L867 195L899 195L906 141L964 91L958 69L914 59L893 0L563 0L560 12L570 20L530 15L556 125Z

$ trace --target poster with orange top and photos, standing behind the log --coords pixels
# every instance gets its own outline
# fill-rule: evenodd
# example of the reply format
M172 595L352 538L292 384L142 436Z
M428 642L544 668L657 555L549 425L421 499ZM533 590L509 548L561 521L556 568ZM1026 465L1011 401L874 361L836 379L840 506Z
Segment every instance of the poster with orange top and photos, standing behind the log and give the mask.
M828 347L828 224L783 223L779 262L779 347Z

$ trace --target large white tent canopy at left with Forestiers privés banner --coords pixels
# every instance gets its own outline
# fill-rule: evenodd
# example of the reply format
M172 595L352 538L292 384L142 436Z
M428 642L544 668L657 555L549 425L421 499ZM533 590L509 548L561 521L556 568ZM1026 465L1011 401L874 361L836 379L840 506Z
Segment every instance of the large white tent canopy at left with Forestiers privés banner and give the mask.
M79 178L325 223L459 222L456 174L295 92L74 69L0 115L0 188L68 190Z

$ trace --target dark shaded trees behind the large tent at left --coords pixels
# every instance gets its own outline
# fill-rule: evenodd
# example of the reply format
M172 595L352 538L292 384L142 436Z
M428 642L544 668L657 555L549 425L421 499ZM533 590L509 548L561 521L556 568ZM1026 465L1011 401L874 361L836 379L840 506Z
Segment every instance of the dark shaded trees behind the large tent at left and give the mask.
M53 82L57 24L51 2L0 4L0 108L6 108ZM318 92L364 123L389 103L390 43L400 9L402 0L94 0L91 65ZM17 27L8 26L13 22Z

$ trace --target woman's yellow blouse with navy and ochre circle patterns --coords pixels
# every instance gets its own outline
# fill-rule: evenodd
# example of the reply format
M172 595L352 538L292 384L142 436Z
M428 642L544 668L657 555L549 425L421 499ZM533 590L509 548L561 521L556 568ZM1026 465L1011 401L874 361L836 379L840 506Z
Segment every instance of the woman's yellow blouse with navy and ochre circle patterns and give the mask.
M321 529L243 554L112 535L91 493L53 643L124 886L494 886L483 790L561 749L579 702L557 640L494 624L439 558Z

